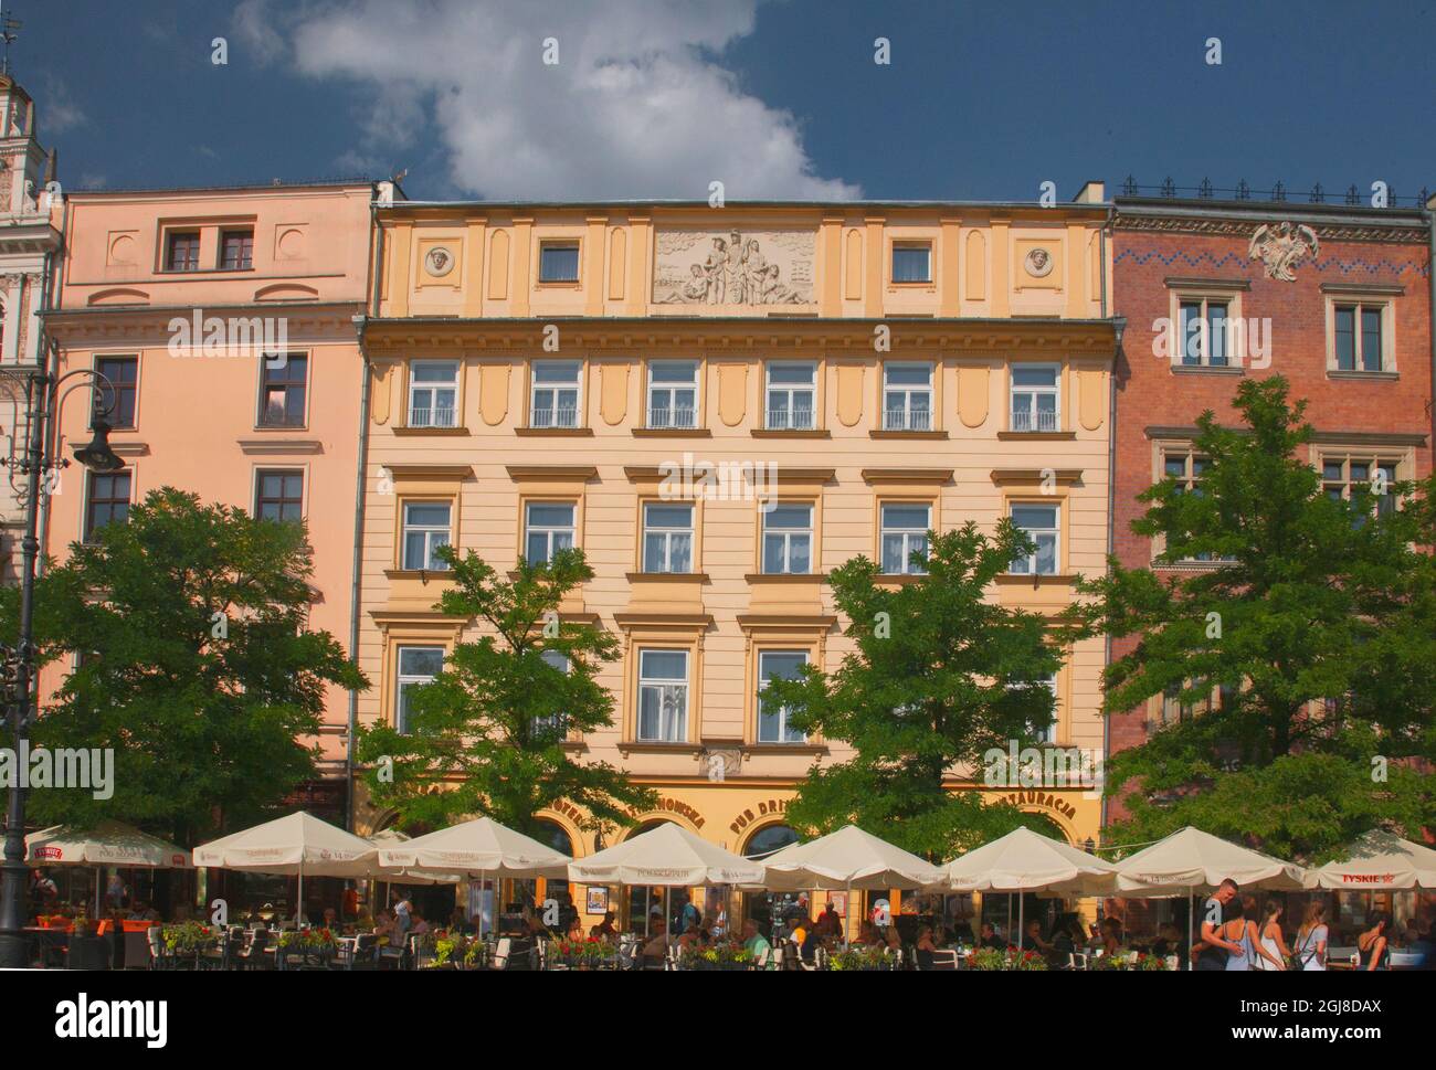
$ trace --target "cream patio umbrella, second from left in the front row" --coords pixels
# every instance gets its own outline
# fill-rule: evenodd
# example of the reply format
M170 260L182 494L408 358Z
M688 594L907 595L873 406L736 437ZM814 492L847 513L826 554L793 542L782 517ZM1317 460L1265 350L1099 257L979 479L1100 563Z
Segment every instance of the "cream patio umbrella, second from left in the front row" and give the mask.
M368 840L300 810L195 847L194 865L299 876L297 918L304 909L304 873L369 876L376 855Z

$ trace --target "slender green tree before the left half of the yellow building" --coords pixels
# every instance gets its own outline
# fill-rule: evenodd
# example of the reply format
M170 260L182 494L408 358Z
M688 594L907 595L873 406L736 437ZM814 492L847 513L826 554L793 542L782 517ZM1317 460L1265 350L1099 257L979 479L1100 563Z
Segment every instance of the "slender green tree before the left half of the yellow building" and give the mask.
M597 672L617 658L617 641L559 618L564 596L593 579L583 552L560 550L546 564L520 557L511 580L472 550L439 553L454 586L437 608L488 633L457 643L438 678L414 689L408 732L360 730L375 801L398 809L404 824L487 814L533 834L538 810L560 799L587 810L584 827L632 824L628 809L656 804L656 793L607 763L574 761L563 745L569 732L613 724Z

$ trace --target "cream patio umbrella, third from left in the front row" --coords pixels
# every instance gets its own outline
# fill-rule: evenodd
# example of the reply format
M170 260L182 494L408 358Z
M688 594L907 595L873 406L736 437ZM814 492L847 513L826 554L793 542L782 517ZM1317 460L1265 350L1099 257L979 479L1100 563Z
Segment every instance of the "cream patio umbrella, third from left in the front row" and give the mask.
M573 859L567 855L514 832L493 817L477 817L412 840L379 847L379 865L385 870L421 876L451 873L455 882L477 876L481 885L490 875L567 879L570 862ZM482 912L478 922L482 929Z

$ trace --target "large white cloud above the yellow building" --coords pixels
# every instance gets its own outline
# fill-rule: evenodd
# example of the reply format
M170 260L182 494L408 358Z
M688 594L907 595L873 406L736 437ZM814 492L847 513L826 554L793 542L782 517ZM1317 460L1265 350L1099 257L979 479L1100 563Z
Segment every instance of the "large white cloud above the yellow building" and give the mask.
M797 119L722 66L760 1L246 0L236 32L359 86L362 157L399 158L432 122L465 194L707 200L718 180L729 200L860 195L814 174Z

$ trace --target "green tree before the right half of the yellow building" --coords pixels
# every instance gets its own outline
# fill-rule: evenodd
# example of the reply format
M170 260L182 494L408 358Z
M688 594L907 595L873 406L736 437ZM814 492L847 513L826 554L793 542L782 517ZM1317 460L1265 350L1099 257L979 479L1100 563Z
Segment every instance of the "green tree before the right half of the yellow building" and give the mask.
M866 557L836 569L833 596L857 649L833 674L810 665L797 679L771 678L765 701L854 751L813 766L785 811L794 829L854 823L939 860L1030 823L945 781L962 766L981 776L988 751L1007 753L1010 741L1035 741L1053 722L1040 681L1061 656L1044 618L985 597L1018 553L1035 549L1010 520L992 537L968 523L929 540L926 576L910 583L883 582Z

